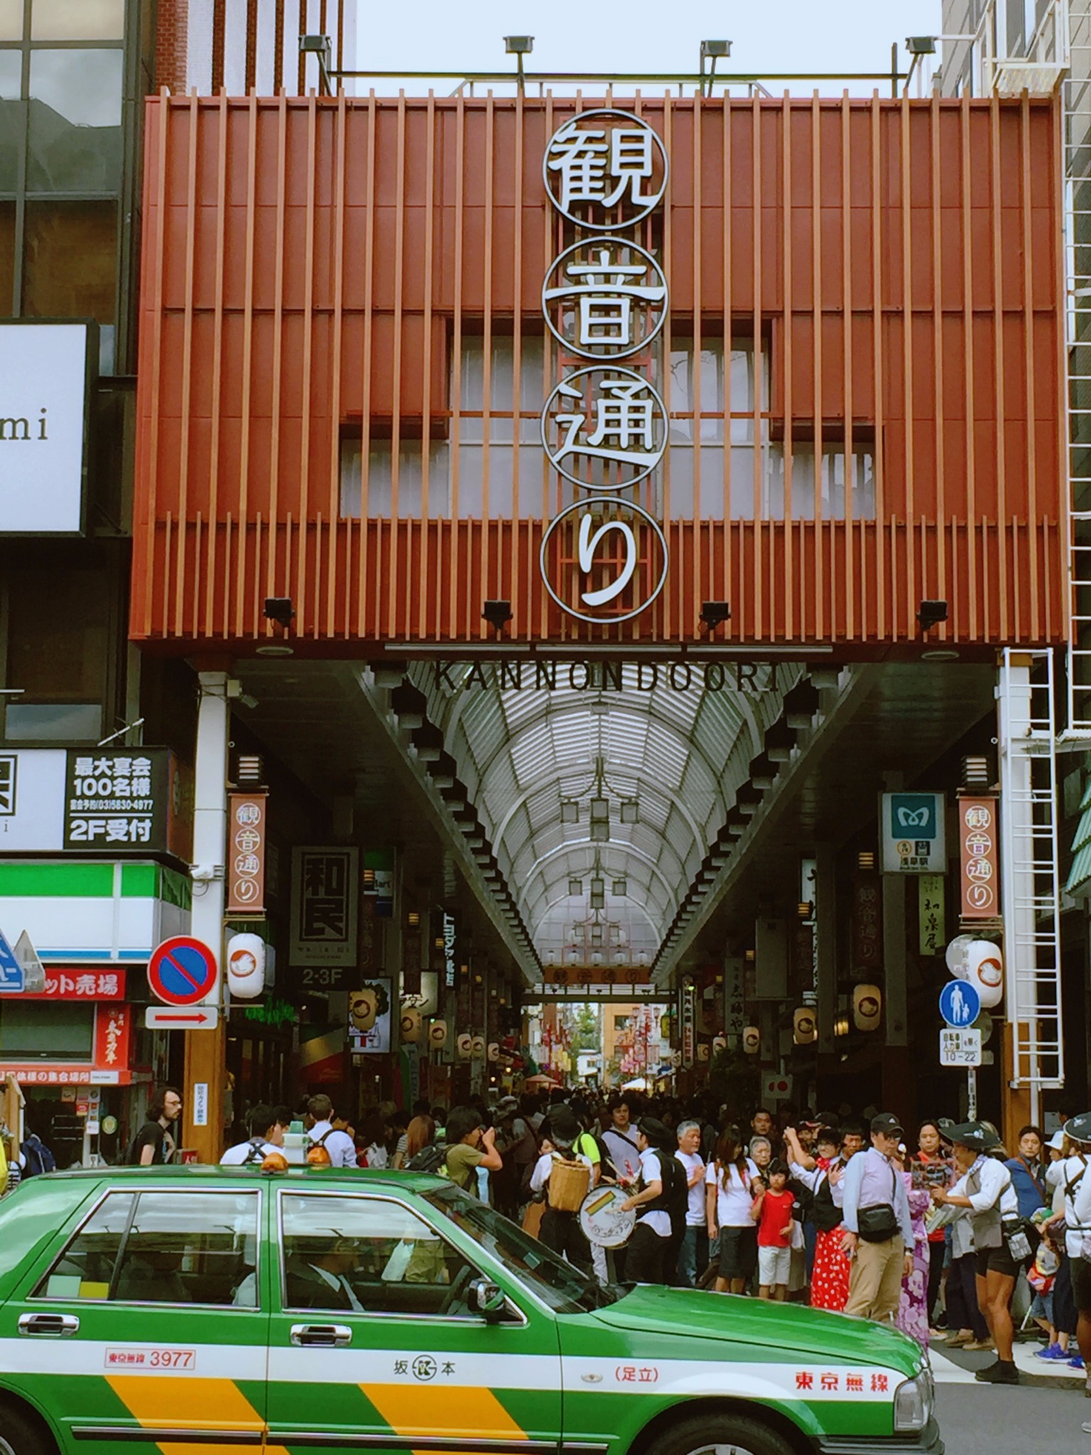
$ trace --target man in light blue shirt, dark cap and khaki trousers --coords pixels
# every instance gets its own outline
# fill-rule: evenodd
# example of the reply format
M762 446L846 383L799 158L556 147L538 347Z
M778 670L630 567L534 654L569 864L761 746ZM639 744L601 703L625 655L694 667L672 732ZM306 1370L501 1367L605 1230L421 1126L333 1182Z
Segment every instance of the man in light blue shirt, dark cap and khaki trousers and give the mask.
M914 1270L914 1222L909 1197L892 1157L905 1136L890 1112L871 1117L871 1145L854 1157L842 1179L841 1238L852 1270L847 1314L893 1323L902 1301L902 1279Z

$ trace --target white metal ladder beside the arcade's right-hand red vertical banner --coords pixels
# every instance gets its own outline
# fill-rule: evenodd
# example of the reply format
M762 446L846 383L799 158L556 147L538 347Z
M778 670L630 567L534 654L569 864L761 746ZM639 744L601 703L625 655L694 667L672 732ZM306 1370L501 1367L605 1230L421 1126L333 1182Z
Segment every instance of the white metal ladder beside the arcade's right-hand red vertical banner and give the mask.
M1012 1085L1065 1084L1053 652L1004 649L999 687L1001 895Z

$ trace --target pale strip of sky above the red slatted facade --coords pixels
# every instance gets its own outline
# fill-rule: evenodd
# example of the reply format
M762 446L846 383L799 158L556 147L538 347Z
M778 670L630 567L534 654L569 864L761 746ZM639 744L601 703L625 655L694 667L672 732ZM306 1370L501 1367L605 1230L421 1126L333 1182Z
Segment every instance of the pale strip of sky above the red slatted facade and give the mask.
M532 35L527 68L543 71L695 71L701 39L732 41L720 70L838 74L889 71L898 41L905 70L906 35L938 33L940 12L941 0L359 0L356 65L513 70L503 36Z

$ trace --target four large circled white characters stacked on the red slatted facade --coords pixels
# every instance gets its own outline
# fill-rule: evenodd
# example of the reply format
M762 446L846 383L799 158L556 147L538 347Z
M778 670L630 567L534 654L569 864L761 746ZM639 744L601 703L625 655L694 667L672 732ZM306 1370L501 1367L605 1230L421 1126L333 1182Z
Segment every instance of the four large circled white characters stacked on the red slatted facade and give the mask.
M666 322L668 287L659 262L624 231L662 202L666 151L631 112L588 111L553 134L543 178L557 212L592 236L551 263L541 290L563 370L541 413L541 442L575 493L546 528L541 576L569 615L628 621L666 582L663 530L630 492L666 451L650 348Z

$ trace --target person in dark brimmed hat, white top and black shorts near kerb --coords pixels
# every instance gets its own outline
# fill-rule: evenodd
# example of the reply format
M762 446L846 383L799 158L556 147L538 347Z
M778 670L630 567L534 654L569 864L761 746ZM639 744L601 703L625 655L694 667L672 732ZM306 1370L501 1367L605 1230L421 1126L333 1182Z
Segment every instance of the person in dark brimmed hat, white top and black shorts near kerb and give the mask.
M1004 1232L1005 1224L1021 1228L1018 1195L1004 1163L986 1155L1001 1145L991 1128L980 1122L963 1122L950 1128L947 1136L962 1176L950 1190L932 1187L932 1202L969 1213L978 1260L978 1307L996 1344L995 1363L978 1369L973 1378L980 1384L1018 1384L1011 1352L1014 1328L1010 1305L1021 1264L1012 1257Z

